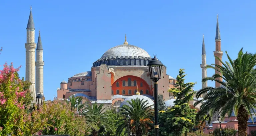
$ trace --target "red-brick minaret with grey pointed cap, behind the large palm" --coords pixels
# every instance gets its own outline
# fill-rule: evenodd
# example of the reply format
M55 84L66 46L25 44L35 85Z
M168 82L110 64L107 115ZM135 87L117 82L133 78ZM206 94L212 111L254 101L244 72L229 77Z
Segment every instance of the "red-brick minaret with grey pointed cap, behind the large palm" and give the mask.
M220 28L219 28L219 16L217 14L217 25L216 25L216 35L215 35L215 46L216 49L213 52L214 56L218 57L220 60L222 60L223 51L221 51L221 39L220 39ZM222 63L215 58L215 65L222 66ZM215 74L220 74L217 70L215 70ZM222 78L216 78L216 80L222 81ZM220 87L220 83L215 82L215 87Z

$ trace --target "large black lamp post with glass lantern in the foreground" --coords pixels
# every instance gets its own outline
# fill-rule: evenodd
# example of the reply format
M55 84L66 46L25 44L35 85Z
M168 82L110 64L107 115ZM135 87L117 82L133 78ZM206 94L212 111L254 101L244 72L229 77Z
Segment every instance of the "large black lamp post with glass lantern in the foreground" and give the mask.
M149 61L148 63L148 68L149 68L149 73L150 73L150 79L152 79L154 83L154 103L155 103L155 136L158 136L158 129L159 129L159 125L158 125L158 103L157 103L157 82L158 80L161 78L161 70L162 70L162 62L159 61L157 58L156 58L156 55L154 55L154 58ZM158 68L158 77L155 77L155 71L154 71L154 68Z

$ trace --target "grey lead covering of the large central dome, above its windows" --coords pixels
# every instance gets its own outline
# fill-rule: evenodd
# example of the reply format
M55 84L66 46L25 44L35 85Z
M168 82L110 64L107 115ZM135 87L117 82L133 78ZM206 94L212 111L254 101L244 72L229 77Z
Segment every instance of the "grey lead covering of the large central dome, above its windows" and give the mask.
M101 56L101 58L125 57L125 56L137 56L137 57L140 56L140 57L151 58L150 55L145 50L130 44L122 44L122 45L118 45L113 48L110 48Z

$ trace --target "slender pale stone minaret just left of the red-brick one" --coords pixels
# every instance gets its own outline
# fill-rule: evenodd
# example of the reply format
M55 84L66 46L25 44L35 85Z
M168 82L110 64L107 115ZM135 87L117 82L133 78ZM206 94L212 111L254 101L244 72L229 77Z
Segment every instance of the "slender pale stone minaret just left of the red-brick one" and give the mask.
M203 45L202 45L202 64L200 65L202 68L202 79L207 77L207 71L206 71L206 51L205 51L205 45L204 45L204 35L203 35ZM202 82L202 88L207 87L207 81Z

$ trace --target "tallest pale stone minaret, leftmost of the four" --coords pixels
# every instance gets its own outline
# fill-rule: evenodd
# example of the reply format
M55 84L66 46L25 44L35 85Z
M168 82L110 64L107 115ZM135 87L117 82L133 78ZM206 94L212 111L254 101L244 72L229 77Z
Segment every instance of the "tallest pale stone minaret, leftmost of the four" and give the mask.
M31 82L29 89L32 92L33 103L36 102L36 86L35 86L35 26L32 16L32 8L30 6L30 15L27 25L27 43L26 48L26 81Z

